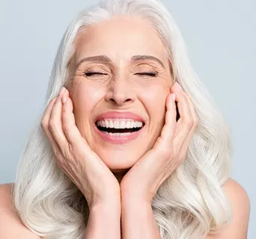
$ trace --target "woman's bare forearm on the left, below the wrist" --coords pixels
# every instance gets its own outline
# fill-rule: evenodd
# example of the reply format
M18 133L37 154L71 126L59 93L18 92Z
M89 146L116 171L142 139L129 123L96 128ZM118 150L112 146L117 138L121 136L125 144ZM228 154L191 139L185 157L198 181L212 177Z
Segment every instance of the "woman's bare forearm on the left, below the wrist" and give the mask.
M114 209L115 208L115 209ZM90 209L85 239L121 239L121 209L98 205Z

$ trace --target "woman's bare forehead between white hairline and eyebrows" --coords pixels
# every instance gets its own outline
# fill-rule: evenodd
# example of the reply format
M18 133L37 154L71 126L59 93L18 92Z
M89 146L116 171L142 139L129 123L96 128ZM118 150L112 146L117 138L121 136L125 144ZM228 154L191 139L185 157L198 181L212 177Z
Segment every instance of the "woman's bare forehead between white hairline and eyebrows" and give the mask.
M84 28L76 37L76 62L94 55L107 55L113 61L126 61L133 55L168 60L156 30L138 16L118 16Z

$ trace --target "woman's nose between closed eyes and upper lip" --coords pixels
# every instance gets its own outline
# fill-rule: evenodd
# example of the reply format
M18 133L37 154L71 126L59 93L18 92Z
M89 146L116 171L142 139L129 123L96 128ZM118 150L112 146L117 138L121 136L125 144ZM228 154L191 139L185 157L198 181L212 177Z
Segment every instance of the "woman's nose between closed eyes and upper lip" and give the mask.
M113 80L106 92L106 101L115 105L127 105L135 100L135 90L126 79Z

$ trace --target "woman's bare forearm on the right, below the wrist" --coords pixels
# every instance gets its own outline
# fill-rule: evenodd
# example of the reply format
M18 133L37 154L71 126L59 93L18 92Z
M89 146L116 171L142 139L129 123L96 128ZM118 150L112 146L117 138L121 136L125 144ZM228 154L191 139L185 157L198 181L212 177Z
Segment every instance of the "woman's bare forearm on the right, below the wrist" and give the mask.
M121 208L122 239L161 239L150 203L127 202Z

